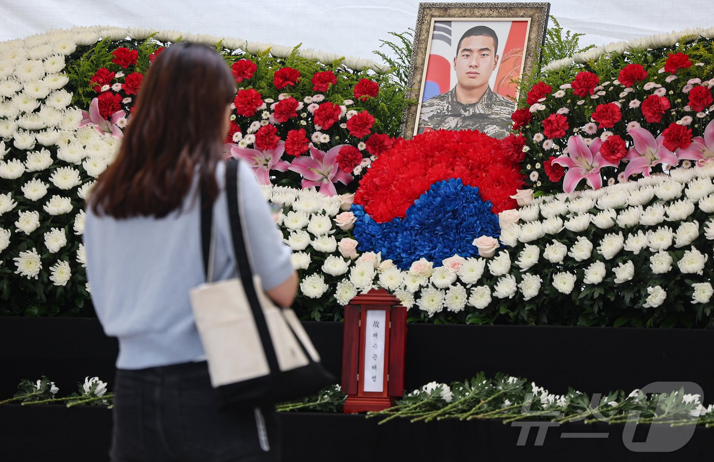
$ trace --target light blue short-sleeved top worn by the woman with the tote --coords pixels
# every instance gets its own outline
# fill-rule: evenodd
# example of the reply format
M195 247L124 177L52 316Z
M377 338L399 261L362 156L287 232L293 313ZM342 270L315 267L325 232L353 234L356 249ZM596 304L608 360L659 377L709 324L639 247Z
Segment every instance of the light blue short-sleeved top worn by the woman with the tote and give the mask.
M213 280L236 276L225 191L226 165L216 169L221 188L213 204L216 256ZM203 358L188 291L206 281L201 255L200 198L191 192L181 213L162 219L114 219L86 209L84 246L91 298L104 332L119 338L116 367L140 369ZM253 272L264 289L291 276L290 248L272 219L251 169L238 169Z

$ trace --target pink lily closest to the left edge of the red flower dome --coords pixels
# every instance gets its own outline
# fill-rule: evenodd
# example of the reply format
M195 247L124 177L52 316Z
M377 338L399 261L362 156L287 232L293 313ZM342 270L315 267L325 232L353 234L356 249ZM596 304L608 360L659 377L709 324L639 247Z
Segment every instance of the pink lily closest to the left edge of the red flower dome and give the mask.
M293 160L288 170L303 176L303 189L320 186L320 192L326 196L337 194L334 181L349 184L352 176L343 172L337 164L337 154L344 144L335 146L327 152L320 151L310 144L310 156L300 156Z

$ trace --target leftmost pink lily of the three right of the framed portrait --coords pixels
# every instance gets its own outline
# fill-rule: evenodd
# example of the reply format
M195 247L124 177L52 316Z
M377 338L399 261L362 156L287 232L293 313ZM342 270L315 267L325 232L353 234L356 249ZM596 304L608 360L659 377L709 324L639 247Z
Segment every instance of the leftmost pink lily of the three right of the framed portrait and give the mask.
M616 167L617 164L603 158L603 155L600 154L602 144L603 142L599 138L590 143L590 146L585 144L585 140L580 135L568 138L568 154L553 159L553 164L568 168L563 178L563 191L568 194L572 193L583 178L593 189L600 189L603 186L600 169Z

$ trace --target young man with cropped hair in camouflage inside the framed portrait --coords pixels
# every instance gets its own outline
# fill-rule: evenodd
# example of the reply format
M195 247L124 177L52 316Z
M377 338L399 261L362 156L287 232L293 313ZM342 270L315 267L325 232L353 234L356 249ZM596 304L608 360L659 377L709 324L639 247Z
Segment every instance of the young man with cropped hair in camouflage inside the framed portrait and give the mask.
M511 128L516 103L491 90L488 79L498 66L498 37L487 26L468 29L456 46L456 85L424 101L419 133L425 130L478 130L503 139Z

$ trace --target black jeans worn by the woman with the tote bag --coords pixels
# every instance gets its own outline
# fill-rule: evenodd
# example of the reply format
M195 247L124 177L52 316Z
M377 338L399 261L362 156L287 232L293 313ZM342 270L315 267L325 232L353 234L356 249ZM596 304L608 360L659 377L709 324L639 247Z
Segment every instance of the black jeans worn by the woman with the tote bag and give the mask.
M219 410L205 361L117 369L111 460L278 461L273 408Z

